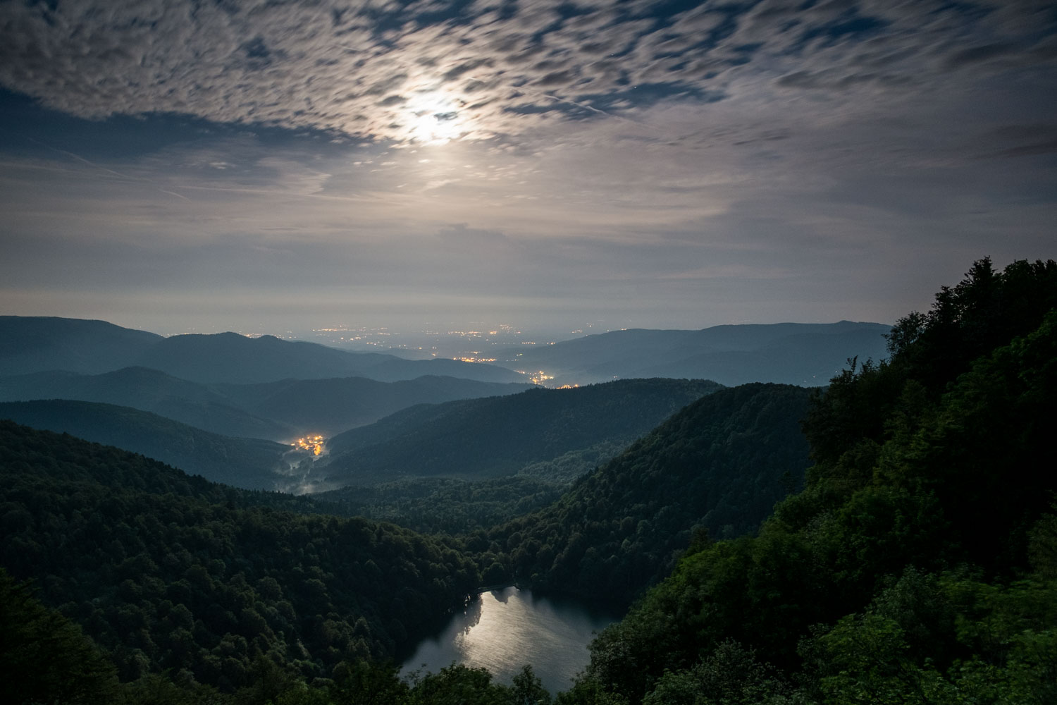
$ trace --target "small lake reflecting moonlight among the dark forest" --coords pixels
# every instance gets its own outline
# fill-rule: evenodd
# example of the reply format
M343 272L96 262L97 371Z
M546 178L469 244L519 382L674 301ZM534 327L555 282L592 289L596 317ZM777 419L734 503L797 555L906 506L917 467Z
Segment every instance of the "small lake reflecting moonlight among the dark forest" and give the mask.
M525 664L532 664L552 693L568 690L590 661L593 632L619 618L571 599L533 595L531 590L503 588L483 592L455 613L440 632L426 637L402 666L437 672L452 662L484 667L496 681L509 685Z

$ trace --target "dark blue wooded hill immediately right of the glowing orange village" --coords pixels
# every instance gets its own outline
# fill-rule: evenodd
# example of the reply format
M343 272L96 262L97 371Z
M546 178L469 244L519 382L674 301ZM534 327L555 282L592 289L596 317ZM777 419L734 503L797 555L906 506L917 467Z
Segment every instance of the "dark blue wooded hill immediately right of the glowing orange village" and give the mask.
M330 441L335 484L409 476L486 478L605 441L631 442L713 392L707 381L627 379L405 409Z

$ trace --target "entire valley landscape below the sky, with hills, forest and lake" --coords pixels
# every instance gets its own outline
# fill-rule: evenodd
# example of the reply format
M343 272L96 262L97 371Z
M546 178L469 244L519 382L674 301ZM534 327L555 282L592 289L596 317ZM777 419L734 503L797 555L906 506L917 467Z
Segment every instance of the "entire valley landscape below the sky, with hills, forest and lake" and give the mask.
M847 322L556 342L538 367L620 377L565 389L5 318L15 702L1045 702L1055 292L982 260L884 356Z

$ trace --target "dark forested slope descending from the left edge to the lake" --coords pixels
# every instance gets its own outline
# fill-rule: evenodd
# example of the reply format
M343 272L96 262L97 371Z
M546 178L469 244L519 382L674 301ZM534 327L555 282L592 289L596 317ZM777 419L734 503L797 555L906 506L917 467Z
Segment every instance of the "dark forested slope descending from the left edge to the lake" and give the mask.
M480 582L439 539L281 508L307 503L0 422L0 567L34 578L123 680L166 669L231 689L260 656L327 675L391 656Z

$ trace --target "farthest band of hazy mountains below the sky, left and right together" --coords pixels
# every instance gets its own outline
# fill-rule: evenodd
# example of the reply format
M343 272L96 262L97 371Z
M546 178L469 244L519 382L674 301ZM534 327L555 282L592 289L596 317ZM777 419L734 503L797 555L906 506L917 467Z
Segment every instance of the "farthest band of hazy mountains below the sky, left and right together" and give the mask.
M236 333L162 337L100 320L0 316L0 375L64 370L81 374L146 367L201 384L423 375L520 383L542 371L552 386L614 378L713 379L723 385L828 384L850 357L887 356L882 323L716 326L698 331L612 331L550 346L498 351L497 365L404 359L315 342ZM503 367L500 367L503 366ZM505 369L504 369L505 368Z

